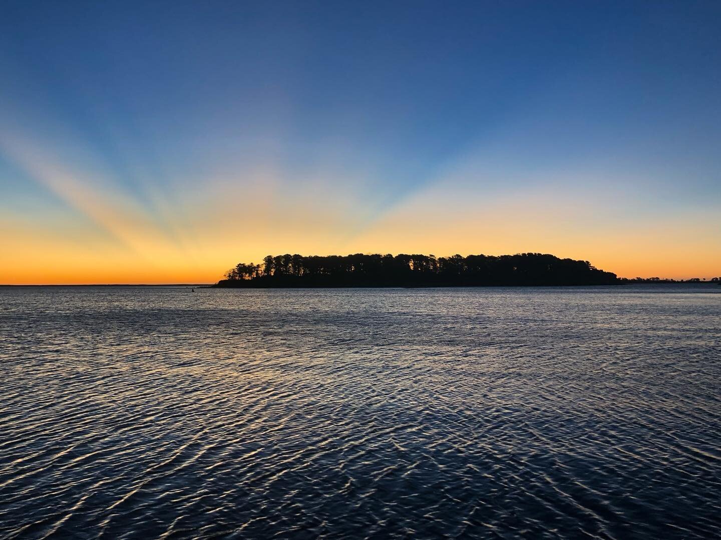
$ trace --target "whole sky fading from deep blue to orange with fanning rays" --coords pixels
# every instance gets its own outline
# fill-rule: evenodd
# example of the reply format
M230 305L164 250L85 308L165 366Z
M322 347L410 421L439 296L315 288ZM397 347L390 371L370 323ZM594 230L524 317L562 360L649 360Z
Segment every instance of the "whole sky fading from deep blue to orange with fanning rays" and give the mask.
M0 283L266 254L721 275L718 1L3 2Z

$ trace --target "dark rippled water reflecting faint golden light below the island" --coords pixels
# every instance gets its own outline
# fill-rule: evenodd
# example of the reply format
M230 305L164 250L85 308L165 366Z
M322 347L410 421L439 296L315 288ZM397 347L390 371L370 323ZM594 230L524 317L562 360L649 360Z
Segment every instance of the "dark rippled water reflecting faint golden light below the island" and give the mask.
M0 288L0 537L721 535L721 287Z

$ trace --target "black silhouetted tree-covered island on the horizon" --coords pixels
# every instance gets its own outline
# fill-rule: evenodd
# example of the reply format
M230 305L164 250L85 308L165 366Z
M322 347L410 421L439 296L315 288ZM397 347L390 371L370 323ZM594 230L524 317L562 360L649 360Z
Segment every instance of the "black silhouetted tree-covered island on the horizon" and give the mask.
M240 262L218 287L447 287L612 285L616 274L554 255L268 255Z

